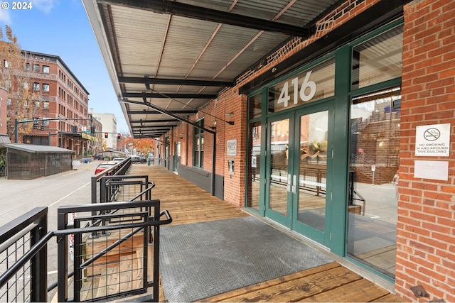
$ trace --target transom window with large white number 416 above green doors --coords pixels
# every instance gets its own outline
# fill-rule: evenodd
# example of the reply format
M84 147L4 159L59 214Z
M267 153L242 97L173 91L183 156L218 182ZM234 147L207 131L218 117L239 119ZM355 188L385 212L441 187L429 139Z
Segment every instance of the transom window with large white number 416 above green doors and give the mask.
M269 89L269 113L332 97L335 92L335 59L289 77Z

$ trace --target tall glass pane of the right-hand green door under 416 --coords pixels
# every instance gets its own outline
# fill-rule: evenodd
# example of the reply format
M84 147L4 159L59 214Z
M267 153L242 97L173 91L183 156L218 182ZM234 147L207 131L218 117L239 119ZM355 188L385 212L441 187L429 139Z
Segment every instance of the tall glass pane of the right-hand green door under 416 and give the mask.
M297 220L325 231L328 111L300 116L299 131Z

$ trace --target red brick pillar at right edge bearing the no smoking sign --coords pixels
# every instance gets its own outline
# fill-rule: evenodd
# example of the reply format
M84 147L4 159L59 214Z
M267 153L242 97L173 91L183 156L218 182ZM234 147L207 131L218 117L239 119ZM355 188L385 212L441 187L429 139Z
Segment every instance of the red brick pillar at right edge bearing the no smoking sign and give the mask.
M412 302L455 302L454 50L455 1L405 6L395 290ZM439 123L451 123L450 157L416 157L416 127ZM449 180L414 178L414 160L449 161Z

